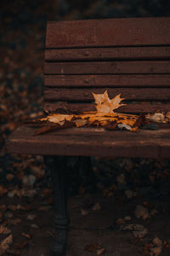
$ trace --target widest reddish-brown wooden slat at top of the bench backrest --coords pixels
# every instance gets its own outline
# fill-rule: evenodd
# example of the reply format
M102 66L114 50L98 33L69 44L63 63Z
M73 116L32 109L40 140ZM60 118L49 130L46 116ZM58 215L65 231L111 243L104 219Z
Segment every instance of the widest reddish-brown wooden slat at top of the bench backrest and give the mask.
M48 22L46 48L170 45L170 18Z

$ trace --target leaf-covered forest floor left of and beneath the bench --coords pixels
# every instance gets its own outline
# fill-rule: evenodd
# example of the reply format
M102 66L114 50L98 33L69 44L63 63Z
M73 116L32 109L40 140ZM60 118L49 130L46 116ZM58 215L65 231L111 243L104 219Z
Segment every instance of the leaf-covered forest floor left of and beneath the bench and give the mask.
M96 6L84 15L93 17ZM56 12L57 4L42 0L1 8L0 255L48 256L54 239L53 191L42 156L7 154L5 140L42 114L45 29ZM170 161L92 160L94 194L82 177L75 183L76 170L70 173L68 255L170 255Z

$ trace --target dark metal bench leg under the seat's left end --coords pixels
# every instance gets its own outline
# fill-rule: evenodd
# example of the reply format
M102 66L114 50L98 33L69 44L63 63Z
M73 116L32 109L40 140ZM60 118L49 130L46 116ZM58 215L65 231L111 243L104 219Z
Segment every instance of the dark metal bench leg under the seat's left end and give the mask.
M67 249L67 232L70 223L67 213L67 157L45 156L44 160L51 171L54 182L55 241L52 252L54 256L65 256Z

